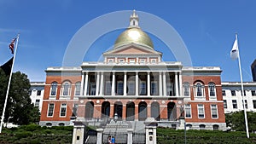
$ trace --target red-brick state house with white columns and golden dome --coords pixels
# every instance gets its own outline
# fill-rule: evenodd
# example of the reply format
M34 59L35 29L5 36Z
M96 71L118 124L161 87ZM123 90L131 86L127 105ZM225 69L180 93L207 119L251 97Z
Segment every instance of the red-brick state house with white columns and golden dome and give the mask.
M116 114L123 121L154 118L176 129L180 117L189 129L225 129L221 69L162 61L164 54L138 22L131 14L130 26L102 62L47 68L41 125L69 125L74 118L98 122Z

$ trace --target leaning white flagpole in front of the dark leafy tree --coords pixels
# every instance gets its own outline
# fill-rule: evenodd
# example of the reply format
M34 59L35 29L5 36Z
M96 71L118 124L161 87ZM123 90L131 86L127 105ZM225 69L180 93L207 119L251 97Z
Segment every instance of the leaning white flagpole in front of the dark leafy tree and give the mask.
M3 113L2 113L1 124L0 124L0 134L2 133L2 128L3 128L4 113L5 113L5 109L6 109L6 105L7 105L7 100L8 100L8 95L9 95L9 85L10 85L10 82L11 82L11 79L12 79L12 74L13 74L13 69L14 69L14 64L15 64L15 56L16 56L16 51L17 51L18 42L19 42L19 37L20 37L20 33L17 35L17 41L15 43L15 54L14 54L14 60L13 60L11 72L9 74L9 83L8 83L8 87L7 87L7 92L6 92L6 95L5 95L5 101L4 101L4 106L3 106Z

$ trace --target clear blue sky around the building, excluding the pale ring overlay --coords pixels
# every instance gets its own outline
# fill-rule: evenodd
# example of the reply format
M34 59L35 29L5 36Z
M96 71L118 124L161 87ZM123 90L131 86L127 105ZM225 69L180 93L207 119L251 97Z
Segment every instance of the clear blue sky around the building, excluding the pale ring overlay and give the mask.
M193 66L220 66L222 81L240 81L237 60L230 59L237 32L243 80L252 81L250 65L256 59L255 8L253 0L0 1L0 64L12 56L8 46L20 32L15 71L25 72L31 81L44 81L44 70L61 66L68 43L82 26L102 14L137 9L166 20L183 38ZM102 36L92 45L98 55L91 56L89 51L84 60L98 60L120 32ZM175 60L159 39L153 37L153 41L155 49L163 52L164 60Z

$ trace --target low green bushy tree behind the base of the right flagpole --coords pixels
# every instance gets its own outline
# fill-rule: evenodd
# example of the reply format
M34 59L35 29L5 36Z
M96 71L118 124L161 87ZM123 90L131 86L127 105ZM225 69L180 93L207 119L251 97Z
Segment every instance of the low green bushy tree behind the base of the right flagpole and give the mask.
M244 112L231 112L225 114L226 124L230 126L231 130L246 131ZM249 131L253 132L256 130L256 112L247 112L247 122Z

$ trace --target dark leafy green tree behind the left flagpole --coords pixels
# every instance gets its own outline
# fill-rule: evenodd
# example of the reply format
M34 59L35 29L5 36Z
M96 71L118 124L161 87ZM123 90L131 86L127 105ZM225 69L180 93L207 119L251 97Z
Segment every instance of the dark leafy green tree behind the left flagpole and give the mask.
M7 91L9 76L0 69L0 114L2 116L3 104ZM31 124L39 121L38 107L34 107L29 97L30 82L26 74L14 72L10 89L9 99L5 110L4 122L14 124Z

